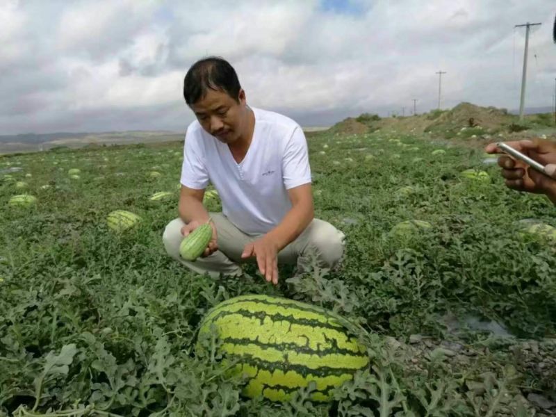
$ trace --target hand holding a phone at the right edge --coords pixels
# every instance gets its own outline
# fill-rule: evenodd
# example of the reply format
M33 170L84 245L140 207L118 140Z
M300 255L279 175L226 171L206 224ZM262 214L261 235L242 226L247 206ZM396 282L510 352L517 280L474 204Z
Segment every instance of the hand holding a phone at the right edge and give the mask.
M556 143L541 139L516 140L506 143L535 161L546 165L545 170L548 174L548 176L541 174L526 163L516 161L504 154L498 158L498 165L502 167L502 177L506 179L506 186L513 190L546 194L556 204ZM496 147L496 143L490 143L484 150L489 154L503 153Z

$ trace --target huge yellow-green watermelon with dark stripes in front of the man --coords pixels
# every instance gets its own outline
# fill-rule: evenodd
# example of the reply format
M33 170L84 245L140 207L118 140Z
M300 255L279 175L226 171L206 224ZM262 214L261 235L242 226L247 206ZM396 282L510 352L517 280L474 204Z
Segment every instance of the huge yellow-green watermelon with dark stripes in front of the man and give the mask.
M215 327L212 327L215 325ZM228 375L247 376L243 395L287 401L309 382L312 400L332 399L332 390L369 365L366 347L349 322L303 302L268 295L241 295L213 307L201 322L199 341L217 336L222 363L238 363Z

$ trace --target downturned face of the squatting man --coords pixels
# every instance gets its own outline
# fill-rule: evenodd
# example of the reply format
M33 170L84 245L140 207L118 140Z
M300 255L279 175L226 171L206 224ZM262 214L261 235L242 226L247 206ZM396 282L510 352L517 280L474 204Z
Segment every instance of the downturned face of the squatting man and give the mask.
M245 92L240 90L238 103L225 92L208 90L190 106L203 129L220 142L236 142L245 126Z

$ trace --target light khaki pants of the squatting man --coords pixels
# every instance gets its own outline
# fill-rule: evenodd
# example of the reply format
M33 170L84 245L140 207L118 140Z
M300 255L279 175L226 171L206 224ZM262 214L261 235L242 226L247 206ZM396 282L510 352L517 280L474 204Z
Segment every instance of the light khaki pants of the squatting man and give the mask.
M179 256L179 244L183 240L181 227L185 224L181 218L167 224L163 243L167 254L186 265L190 270L211 277L223 275L240 275L243 271L240 263L255 262L251 259L241 259L243 248L261 236L251 236L240 231L222 213L209 213L216 226L218 235L218 250L204 258L186 261ZM298 270L309 267L316 257L318 265L324 268L336 268L341 262L344 250L344 234L332 224L324 220L313 219L309 226L297 236L293 242L284 247L278 254L278 263L296 264Z

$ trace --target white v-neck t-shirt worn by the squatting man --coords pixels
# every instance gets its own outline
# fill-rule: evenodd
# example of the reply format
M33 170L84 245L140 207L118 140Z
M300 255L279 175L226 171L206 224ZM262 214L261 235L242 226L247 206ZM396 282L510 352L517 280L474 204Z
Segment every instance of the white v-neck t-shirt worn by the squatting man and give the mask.
M245 234L265 234L290 210L288 189L311 182L305 135L299 124L272 111L250 107L255 127L243 161L197 120L187 129L181 183L203 189L212 183L222 213Z

